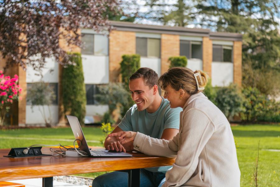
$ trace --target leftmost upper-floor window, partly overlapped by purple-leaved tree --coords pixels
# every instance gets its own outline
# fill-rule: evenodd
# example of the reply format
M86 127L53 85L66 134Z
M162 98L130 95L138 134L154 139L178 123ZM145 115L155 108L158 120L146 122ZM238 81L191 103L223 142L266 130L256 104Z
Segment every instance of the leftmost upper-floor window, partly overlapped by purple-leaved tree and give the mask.
M108 37L100 34L83 34L83 55L108 55Z

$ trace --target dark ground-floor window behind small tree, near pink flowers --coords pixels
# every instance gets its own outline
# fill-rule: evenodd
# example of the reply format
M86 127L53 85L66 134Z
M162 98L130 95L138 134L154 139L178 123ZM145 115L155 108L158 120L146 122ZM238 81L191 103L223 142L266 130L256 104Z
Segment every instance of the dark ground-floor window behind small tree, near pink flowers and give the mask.
M38 85L41 83L27 83L27 95L26 98L30 98L31 90L36 89ZM46 86L48 86L51 90L53 90L55 98L52 100L52 105L58 104L58 83L44 83ZM37 87L38 88L38 87ZM31 105L31 101L29 99L26 100L26 105Z

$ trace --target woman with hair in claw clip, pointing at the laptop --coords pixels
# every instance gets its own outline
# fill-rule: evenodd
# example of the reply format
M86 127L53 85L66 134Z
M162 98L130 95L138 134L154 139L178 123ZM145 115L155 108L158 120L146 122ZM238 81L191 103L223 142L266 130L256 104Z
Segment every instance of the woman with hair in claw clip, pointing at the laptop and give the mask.
M236 148L225 115L202 93L208 76L188 68L170 68L159 78L170 107L181 107L180 130L172 140L155 139L139 132L118 132L124 144L147 155L176 157L166 172L167 186L240 186Z

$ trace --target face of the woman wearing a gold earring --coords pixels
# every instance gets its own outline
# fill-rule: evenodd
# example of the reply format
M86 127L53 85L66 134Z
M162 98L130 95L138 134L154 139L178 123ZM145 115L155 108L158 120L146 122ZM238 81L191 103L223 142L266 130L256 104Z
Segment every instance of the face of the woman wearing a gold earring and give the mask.
M181 107L182 100L180 99L180 92L173 89L168 85L164 90L164 98L168 99L170 102L170 108Z

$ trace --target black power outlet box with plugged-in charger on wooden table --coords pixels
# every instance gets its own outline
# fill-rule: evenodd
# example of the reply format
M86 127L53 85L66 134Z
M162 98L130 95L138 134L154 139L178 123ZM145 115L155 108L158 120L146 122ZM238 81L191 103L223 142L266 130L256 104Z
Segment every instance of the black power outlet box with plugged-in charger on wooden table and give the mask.
M42 147L30 147L27 154L23 153L23 150L25 149L26 147L12 148L6 157L21 158L21 157L28 157L28 156L50 156L47 154L43 154L41 152Z

